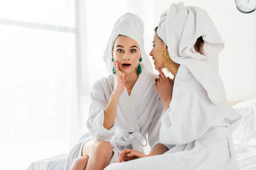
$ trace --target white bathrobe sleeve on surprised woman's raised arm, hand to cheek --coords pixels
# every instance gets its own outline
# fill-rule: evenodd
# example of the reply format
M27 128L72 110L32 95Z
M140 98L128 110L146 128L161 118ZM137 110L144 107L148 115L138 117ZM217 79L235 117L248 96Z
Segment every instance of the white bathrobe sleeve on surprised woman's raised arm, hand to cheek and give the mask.
M111 129L105 129L103 126L104 122L104 110L107 106L105 90L102 84L96 82L90 93L90 107L89 117L86 122L86 127L96 140L104 140L109 142L115 133L116 120Z

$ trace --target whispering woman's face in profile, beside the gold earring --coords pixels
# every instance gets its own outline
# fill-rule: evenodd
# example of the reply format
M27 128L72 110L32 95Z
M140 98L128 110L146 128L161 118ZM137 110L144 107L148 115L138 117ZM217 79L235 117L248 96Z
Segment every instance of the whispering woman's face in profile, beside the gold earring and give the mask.
M153 49L150 51L149 55L154 60L155 69L157 70L157 67L160 67L161 69L165 68L163 63L163 51L167 48L165 43L161 41L155 33L154 40L153 40Z

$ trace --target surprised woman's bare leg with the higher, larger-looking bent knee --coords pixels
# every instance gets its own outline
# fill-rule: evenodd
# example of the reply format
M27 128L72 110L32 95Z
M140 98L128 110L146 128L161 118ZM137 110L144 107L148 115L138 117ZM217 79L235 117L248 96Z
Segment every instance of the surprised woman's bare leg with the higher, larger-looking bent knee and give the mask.
M92 139L86 142L82 156L88 156L89 161L85 170L103 170L108 166L112 153L111 144L106 141Z

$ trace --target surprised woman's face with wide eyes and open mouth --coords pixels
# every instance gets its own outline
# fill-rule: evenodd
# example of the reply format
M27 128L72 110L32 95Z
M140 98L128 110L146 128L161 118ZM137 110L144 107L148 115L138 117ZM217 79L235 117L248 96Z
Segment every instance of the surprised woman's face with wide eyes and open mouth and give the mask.
M118 36L113 44L113 58L118 62L119 71L130 74L139 65L140 49L130 37Z

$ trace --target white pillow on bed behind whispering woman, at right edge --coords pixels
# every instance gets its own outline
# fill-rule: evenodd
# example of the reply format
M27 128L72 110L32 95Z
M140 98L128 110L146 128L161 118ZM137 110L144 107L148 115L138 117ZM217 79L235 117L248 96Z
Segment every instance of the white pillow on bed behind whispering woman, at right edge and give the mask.
M256 144L256 99L241 102L233 108L242 116L239 127L233 131L234 142Z

